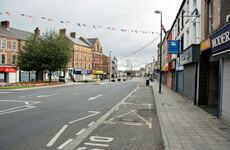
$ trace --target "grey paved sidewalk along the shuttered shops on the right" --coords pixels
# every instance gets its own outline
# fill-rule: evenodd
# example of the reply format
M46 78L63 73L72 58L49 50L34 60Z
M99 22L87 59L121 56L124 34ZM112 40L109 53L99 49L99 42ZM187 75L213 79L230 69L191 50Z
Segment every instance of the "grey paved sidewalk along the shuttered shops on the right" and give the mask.
M166 150L229 150L230 127L186 101L181 95L151 82Z

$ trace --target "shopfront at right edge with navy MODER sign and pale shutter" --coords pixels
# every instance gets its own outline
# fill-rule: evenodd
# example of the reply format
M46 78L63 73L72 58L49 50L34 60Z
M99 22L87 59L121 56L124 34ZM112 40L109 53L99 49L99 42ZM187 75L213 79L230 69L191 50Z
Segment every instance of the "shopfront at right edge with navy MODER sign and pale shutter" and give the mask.
M230 125L230 24L210 36L213 59L218 58L217 117Z

